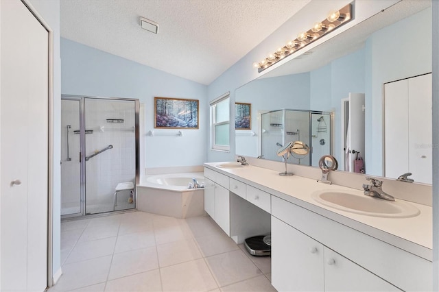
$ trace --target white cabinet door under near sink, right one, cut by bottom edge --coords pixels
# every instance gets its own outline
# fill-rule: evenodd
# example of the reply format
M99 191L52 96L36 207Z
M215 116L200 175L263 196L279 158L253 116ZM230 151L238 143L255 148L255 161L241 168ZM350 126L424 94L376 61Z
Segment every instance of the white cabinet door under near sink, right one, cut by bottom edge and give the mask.
M401 291L328 247L324 263L324 291Z

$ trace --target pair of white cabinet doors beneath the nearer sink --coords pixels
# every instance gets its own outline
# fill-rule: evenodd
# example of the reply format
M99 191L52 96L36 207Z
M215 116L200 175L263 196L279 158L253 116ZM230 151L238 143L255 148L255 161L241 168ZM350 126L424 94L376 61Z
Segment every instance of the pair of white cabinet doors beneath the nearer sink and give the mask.
M401 291L276 217L272 285L278 291Z

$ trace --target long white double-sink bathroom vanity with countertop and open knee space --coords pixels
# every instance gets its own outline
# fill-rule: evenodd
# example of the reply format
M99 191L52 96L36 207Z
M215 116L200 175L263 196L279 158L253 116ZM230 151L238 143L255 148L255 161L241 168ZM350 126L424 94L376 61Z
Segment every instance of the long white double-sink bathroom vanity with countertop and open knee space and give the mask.
M271 231L278 291L431 291L430 206L402 202L418 215L349 212L313 197L362 191L254 165L206 163L204 176L205 210L232 239Z

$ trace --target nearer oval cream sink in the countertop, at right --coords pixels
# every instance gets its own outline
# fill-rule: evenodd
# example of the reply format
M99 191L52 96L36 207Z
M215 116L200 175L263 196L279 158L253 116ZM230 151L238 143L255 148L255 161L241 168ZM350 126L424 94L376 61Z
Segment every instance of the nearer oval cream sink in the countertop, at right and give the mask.
M312 197L331 208L374 217L407 218L420 213L418 208L401 200L387 201L346 191L318 191Z

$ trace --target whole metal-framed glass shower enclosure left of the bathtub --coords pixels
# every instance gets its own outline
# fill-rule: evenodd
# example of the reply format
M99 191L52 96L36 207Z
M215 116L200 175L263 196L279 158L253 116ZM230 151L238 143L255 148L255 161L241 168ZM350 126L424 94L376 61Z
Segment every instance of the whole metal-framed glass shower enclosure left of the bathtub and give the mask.
M63 95L61 111L61 215L136 208L139 100Z

